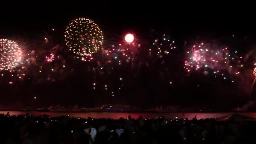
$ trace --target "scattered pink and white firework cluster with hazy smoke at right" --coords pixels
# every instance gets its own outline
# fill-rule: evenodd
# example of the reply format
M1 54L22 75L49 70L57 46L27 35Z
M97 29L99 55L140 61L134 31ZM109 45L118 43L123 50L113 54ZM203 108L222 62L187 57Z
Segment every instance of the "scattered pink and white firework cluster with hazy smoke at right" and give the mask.
M228 48L213 48L210 44L200 43L193 45L186 53L187 60L184 62L184 68L187 72L201 69L207 75L211 69L214 75L219 74L226 79L227 74L239 75L239 71L243 69L241 64L243 57L232 55Z

